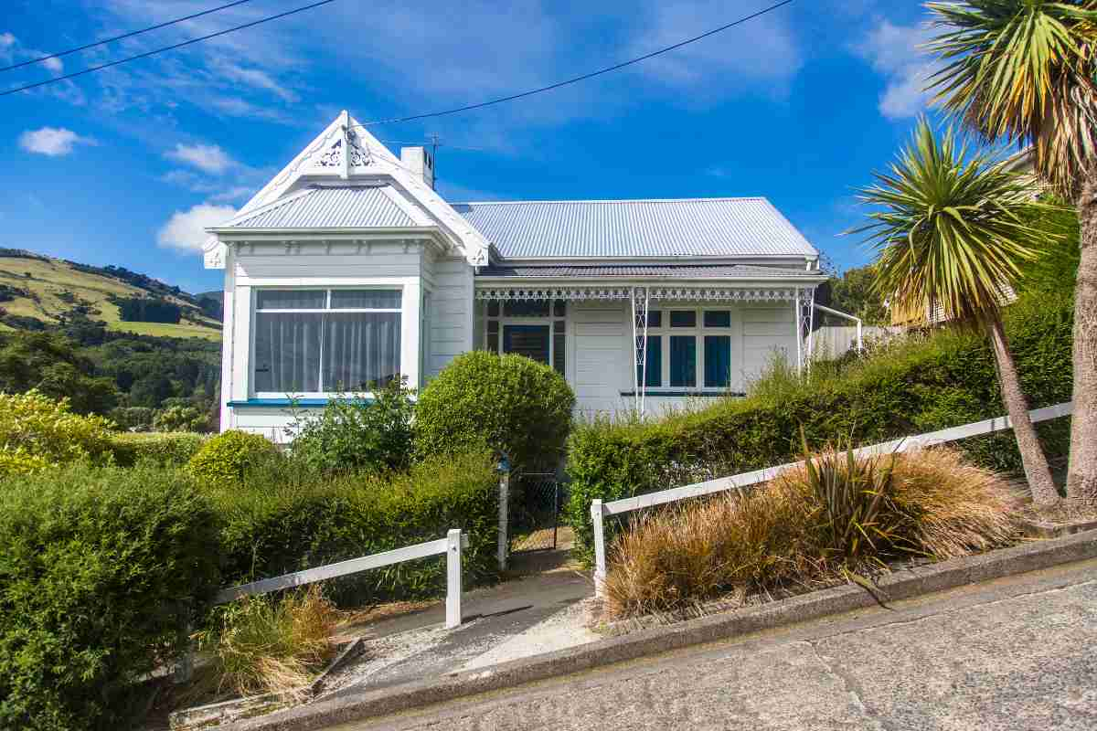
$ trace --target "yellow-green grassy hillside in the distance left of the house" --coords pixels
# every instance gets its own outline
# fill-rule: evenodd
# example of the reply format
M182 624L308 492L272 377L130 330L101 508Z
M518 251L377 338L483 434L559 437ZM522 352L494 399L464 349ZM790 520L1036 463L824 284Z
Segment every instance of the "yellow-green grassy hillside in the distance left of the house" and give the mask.
M152 289L156 287L156 290ZM30 317L45 324L58 324L75 309L92 320L102 320L114 332L133 332L165 338L220 340L220 322L207 317L193 298L171 294L163 285L135 286L106 270L94 270L36 254L5 252L0 255L0 290L11 297L0 301L9 316ZM178 323L124 322L111 297L156 296L182 308ZM10 330L10 324L0 325Z

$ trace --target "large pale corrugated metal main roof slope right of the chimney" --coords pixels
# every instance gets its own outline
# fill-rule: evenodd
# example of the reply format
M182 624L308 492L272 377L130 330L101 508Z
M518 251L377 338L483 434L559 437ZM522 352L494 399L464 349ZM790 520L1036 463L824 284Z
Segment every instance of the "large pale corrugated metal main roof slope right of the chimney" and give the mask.
M453 207L505 259L818 255L766 198L531 201Z

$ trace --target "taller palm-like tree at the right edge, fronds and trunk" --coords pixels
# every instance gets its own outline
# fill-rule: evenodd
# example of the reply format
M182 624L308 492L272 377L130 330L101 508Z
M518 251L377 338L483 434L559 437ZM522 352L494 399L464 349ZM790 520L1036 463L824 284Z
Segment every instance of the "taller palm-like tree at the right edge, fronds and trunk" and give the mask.
M936 100L987 140L1031 145L1081 224L1066 492L1097 504L1097 0L930 2Z

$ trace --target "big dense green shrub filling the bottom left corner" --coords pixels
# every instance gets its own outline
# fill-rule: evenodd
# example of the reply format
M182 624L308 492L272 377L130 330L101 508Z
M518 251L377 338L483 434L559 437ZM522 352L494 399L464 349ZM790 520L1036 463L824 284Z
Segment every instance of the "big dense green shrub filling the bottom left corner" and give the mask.
M134 682L185 647L218 585L216 546L176 470L0 483L0 728L128 724Z

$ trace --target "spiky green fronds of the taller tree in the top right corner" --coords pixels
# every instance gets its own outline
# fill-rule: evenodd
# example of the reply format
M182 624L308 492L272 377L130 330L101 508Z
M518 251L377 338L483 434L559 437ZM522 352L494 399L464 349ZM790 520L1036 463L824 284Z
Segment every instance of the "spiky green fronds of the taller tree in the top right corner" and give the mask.
M929 2L946 28L936 101L987 139L1034 144L1040 174L1070 199L1097 158L1097 0Z

